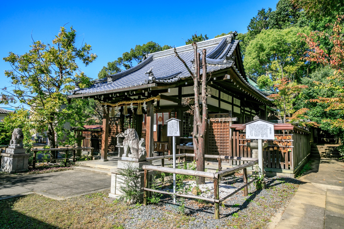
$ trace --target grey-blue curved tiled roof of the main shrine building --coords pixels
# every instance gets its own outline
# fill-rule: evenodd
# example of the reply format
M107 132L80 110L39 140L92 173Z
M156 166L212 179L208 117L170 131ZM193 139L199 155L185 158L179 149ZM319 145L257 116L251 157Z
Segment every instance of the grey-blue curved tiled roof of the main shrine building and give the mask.
M219 69L229 68L232 66L235 68L234 50L238 43L239 41L233 39L233 34L198 42L197 47L199 52L201 52L201 49L203 48L207 50L207 72L214 72ZM194 50L192 45L177 47L176 50L188 67L194 71ZM152 69L153 76L146 74L150 69ZM72 94L84 94L129 88L153 82L174 83L187 77L190 77L190 73L187 71L183 63L175 56L173 49L168 49L148 54L147 58L137 66L126 71L110 75L107 78L96 80L89 88L76 88L71 92ZM241 80L249 85L249 87L254 91L266 98L266 95L251 85L247 81L246 77L241 77Z

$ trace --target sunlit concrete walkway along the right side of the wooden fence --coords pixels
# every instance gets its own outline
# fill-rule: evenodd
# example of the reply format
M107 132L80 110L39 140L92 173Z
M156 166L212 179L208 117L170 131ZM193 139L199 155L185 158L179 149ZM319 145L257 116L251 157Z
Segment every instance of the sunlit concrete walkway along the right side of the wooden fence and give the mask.
M276 229L343 229L344 163L314 158L312 170L300 178L295 196L284 210Z

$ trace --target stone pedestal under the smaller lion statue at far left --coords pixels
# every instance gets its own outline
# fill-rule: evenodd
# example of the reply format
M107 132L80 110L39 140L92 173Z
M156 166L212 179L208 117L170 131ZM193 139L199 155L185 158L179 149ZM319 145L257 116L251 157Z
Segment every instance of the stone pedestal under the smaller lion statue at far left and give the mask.
M26 172L28 171L29 156L29 153L1 153L0 170L6 173Z

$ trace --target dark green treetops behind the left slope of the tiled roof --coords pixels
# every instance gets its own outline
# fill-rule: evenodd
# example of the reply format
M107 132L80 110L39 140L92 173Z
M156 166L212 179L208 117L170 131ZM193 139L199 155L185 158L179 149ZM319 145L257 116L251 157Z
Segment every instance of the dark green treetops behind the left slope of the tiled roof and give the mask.
M103 79L108 75L121 72L123 70L132 68L133 66L139 64L144 59L144 56L150 53L155 53L158 51L163 51L172 48L169 45L160 46L155 42L147 42L143 45L136 45L135 48L131 48L129 52L122 54L122 57L117 58L112 62L108 62L107 66L103 67L98 73L98 78Z

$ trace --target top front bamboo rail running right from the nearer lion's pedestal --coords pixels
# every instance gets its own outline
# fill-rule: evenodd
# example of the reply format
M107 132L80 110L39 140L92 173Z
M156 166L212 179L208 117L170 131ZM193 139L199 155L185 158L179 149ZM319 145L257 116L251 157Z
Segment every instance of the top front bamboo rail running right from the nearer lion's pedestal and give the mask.
M203 172L203 171L196 171L196 170L187 170L187 169L173 169L173 168L167 168L167 167L161 167L161 166L155 166L155 165L143 165L143 170L153 170L153 171L159 171L159 172L165 172L165 173L175 173L175 174L183 174L183 175L189 175L189 176L201 176L204 178L216 178L218 179L219 176L217 173L210 173L210 172Z

